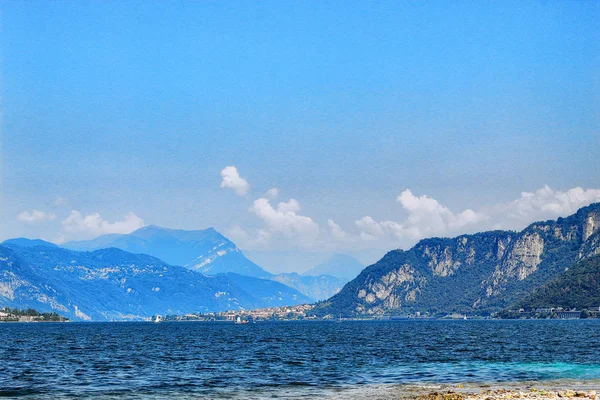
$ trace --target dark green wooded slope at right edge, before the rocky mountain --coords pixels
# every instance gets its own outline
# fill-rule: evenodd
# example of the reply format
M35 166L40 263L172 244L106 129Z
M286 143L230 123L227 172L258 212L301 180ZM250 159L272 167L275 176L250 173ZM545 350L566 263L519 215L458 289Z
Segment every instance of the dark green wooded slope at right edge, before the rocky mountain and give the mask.
M569 307L582 310L600 306L600 255L579 261L556 280L535 290L511 308Z

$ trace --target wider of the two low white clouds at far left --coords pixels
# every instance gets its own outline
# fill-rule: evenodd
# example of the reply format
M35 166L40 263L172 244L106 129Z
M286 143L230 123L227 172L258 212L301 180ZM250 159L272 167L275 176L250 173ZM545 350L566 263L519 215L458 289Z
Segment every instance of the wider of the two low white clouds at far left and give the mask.
M131 233L145 226L145 223L132 212L125 215L121 221L108 222L98 213L83 216L79 211L72 210L71 214L62 221L62 225L65 232L83 239L106 233Z

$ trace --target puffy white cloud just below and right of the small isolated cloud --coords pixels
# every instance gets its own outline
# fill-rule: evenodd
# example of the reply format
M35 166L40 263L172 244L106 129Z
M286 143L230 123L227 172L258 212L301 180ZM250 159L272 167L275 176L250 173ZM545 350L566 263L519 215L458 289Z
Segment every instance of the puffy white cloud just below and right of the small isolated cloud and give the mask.
M295 199L280 202L273 207L269 199L261 197L254 201L250 212L263 223L258 236L262 241L285 238L293 239L298 245L309 245L319 235L319 225L310 217L298 214L300 203Z

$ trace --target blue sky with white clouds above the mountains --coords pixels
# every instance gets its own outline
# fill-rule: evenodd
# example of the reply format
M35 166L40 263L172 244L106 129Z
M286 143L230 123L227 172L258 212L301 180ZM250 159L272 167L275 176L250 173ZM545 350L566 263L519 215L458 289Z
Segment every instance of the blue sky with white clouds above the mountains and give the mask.
M0 11L0 239L366 251L600 201L597 1Z

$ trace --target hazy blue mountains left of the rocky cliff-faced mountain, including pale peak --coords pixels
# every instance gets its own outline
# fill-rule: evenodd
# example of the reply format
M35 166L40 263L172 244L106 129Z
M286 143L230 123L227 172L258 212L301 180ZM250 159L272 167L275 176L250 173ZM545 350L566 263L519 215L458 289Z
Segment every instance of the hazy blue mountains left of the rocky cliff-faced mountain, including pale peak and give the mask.
M25 238L1 247L7 257L0 261L0 305L58 311L75 320L310 303L331 297L346 282L273 275L212 228L151 225L60 247Z

